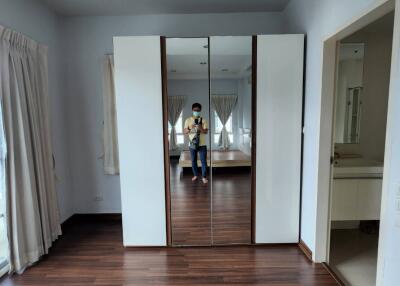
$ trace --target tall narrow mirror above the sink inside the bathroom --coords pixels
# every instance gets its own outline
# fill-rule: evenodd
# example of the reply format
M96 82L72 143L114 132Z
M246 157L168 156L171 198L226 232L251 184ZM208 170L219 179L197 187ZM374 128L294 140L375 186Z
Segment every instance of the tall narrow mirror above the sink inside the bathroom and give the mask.
M335 143L360 142L364 44L341 43L337 71Z

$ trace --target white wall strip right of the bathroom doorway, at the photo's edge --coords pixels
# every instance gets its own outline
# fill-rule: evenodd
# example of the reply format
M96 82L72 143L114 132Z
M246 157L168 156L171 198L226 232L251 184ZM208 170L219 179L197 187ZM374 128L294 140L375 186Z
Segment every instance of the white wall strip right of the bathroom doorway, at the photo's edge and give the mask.
M400 283L400 0L396 0L393 65L385 153L385 173L379 233L377 285Z

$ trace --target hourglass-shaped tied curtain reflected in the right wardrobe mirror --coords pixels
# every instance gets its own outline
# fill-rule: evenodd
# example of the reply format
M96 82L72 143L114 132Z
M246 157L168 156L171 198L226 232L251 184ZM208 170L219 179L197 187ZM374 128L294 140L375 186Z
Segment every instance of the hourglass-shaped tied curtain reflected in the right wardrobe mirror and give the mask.
M221 149L227 150L231 142L229 140L228 131L226 130L226 123L236 106L237 95L213 95L211 99L218 118L223 125L218 139L218 146L221 147Z

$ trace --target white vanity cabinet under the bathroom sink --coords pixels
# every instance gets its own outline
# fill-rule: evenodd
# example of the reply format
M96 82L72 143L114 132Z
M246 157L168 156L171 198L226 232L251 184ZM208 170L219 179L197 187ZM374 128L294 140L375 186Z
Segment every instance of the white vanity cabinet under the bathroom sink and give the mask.
M379 220L382 179L334 179L331 220Z

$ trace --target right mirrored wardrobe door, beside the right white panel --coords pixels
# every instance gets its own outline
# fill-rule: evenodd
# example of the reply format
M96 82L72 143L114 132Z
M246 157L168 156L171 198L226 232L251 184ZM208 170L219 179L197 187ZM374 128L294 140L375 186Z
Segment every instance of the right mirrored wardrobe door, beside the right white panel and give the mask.
M251 243L252 37L210 37L212 241Z

